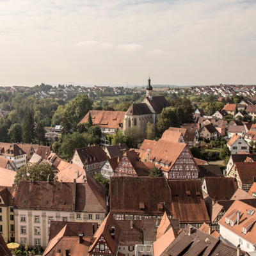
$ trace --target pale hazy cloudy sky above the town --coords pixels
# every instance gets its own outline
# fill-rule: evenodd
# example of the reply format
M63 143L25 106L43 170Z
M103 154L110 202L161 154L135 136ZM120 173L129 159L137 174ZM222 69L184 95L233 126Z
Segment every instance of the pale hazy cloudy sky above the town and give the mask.
M256 84L256 0L0 0L0 86Z

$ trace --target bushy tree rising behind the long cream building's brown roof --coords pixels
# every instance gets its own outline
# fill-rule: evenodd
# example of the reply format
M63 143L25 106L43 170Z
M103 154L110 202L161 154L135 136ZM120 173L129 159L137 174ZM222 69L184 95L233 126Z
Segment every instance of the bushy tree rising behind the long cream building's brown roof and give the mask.
M27 163L17 170L14 182L19 185L20 180L47 181L48 177L50 181L58 180L58 177L56 177L56 173L50 164Z

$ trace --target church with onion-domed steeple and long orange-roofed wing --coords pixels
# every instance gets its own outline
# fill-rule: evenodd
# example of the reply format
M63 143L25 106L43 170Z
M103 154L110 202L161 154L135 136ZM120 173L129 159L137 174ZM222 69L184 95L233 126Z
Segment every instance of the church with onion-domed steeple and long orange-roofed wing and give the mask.
M152 96L153 87L150 82L149 77L145 99L141 103L132 104L126 112L90 110L93 124L99 125L102 131L102 146L109 145L109 141L104 140L104 135L115 134L117 129L125 131L129 127L138 126L144 131L146 137L147 123L156 125L163 109L170 107L169 102L163 96ZM89 113L79 124L88 122L88 115Z

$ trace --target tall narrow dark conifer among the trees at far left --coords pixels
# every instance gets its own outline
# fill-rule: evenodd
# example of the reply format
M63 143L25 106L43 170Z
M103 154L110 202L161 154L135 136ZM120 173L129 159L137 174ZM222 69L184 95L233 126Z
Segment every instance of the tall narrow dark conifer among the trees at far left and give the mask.
M33 115L27 112L22 121L22 140L31 143L35 138L35 124Z

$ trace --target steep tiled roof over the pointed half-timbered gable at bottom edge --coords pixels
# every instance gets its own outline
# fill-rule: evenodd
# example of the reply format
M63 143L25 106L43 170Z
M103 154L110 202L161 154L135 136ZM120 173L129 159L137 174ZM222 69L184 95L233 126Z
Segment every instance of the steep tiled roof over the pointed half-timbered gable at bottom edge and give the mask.
M111 230L112 227L115 227L115 234L114 238L111 237ZM111 213L108 214L108 216L105 218L105 220L100 224L100 227L97 229L97 231L94 234L95 241L90 246L88 252L92 252L97 243L99 242L99 239L101 236L104 237L105 241L108 243L109 250L111 250L111 255L116 255L116 252L118 250L118 243L120 241L122 230L114 220Z

